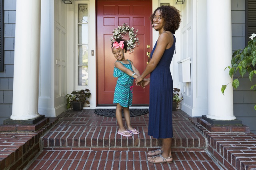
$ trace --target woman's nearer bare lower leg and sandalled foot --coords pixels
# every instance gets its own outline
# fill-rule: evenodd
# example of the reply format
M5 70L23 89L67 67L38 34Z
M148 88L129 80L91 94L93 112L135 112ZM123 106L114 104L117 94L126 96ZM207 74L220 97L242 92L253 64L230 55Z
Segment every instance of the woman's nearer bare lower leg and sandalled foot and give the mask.
M171 153L172 138L163 138L162 143L163 144L162 144L161 150L164 151L162 153L162 156L164 158L172 156L172 153ZM159 156L156 158L148 157L148 160L150 160L152 162L163 162L163 159ZM167 158L166 161L170 162L170 161L172 161L172 158Z

